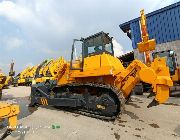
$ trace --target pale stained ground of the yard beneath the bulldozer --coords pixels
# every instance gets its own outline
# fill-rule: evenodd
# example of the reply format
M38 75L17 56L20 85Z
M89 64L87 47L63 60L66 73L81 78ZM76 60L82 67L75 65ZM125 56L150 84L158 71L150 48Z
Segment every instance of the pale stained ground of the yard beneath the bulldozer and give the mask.
M28 108L30 87L3 91L3 102L20 105L18 128L7 140L171 140L180 139L180 98L147 108L152 99L132 96L115 121L102 121L53 107ZM0 135L6 122L1 123ZM53 125L57 128L53 129Z

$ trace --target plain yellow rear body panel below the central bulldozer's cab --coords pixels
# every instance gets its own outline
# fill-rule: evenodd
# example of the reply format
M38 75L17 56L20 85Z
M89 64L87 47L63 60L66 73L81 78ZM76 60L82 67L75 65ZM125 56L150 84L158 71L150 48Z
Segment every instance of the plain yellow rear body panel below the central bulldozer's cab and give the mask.
M104 53L85 58L83 71L72 70L70 77L115 75L122 70L124 67L118 58Z

